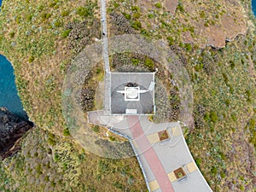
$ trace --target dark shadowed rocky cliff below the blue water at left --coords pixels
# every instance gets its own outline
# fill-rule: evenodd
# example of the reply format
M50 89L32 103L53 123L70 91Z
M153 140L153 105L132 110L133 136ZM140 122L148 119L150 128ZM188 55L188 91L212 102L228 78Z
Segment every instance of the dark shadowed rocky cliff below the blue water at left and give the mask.
M20 148L17 141L31 128L32 123L0 108L0 159L15 154Z

